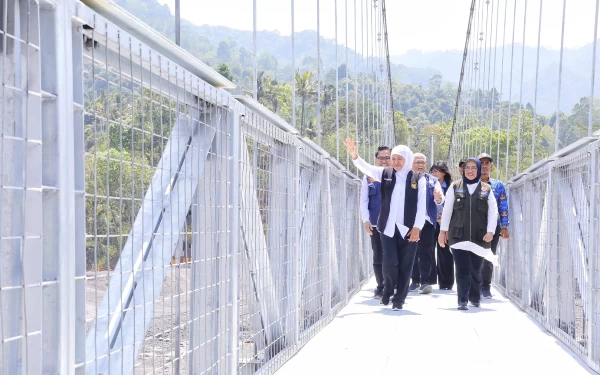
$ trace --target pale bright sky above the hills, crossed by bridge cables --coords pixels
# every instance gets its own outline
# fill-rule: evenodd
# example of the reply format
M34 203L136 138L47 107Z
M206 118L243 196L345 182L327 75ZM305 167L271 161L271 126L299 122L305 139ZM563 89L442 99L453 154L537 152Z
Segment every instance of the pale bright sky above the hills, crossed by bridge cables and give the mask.
M338 41L345 42L345 19L348 18L348 44L354 45L354 9L357 8L357 32L361 31L361 9L373 0L337 0ZM486 5L486 1L489 4ZM473 34L484 32L494 43L522 43L537 46L540 30L540 3L542 0L475 0L478 11L474 14ZM159 0L174 7L174 0ZM291 33L292 0L256 0L257 29ZM381 1L379 0L378 3ZM518 2L517 12L514 4ZM527 2L527 8L524 4ZM345 4L348 4L346 15ZM207 6L207 4L210 4ZM354 5L356 4L356 6ZM471 0L387 0L387 24L391 55L402 55L408 50L443 51L462 50L469 20ZM379 9L379 8L378 8ZM294 28L296 31L316 30L317 0L295 0ZM526 10L526 12L525 12ZM595 0L568 1L565 9L564 47L577 48L594 39ZM493 14L492 14L493 12ZM335 0L320 0L321 35L335 38ZM223 25L241 30L253 29L253 0L181 0L181 14L195 24ZM560 49L563 0L543 0L540 44ZM498 31L494 27L498 17ZM367 17L365 17L367 18ZM503 33L504 19L506 31ZM487 22L486 22L487 19ZM514 20L514 21L513 21ZM364 28L364 23L362 25ZM496 38L497 37L497 41ZM489 39L488 39L489 38ZM360 43L360 36L357 37Z

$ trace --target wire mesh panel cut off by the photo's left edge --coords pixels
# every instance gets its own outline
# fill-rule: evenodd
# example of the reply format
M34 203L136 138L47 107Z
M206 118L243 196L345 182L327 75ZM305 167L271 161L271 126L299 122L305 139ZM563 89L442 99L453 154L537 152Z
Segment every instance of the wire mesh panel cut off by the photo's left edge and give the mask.
M58 336L43 328L42 312L58 310L58 275L46 268L55 259L42 252L37 2L0 1L0 54L0 373L40 373L57 370Z

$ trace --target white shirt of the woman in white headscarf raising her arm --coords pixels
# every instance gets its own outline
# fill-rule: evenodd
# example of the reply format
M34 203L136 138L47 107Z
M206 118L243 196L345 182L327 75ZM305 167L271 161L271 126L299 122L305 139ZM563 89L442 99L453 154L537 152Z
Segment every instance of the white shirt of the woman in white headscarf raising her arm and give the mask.
M356 168L361 170L361 172L381 182L381 177L383 175L383 170L385 169L385 167L377 167L371 165L363 159L361 159L360 157L358 157L356 160L353 160L352 162L354 163ZM402 173L396 171L396 185L394 186L394 191L392 192L392 200L390 203L390 215L388 217L387 224L383 231L383 234L385 234L388 237L394 237L396 226L398 227L402 238L406 237L406 234L411 229L404 225L404 191L406 189L407 175L407 172ZM425 186L425 178L421 178L418 184L419 190L417 196L417 215L415 216L415 224L413 226L414 228L418 228L419 230L423 229L423 226L425 225L425 216L427 211L427 208L425 206Z

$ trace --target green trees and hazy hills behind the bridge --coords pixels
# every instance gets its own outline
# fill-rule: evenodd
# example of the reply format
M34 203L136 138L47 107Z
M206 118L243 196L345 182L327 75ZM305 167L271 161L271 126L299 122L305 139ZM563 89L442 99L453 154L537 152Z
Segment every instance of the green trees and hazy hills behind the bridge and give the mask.
M119 0L117 3L164 35L172 34L173 18L168 7L160 6L154 0ZM306 52L316 38L312 32L298 33L296 46L300 64L292 71L287 45L289 37L269 32L260 34L262 40L268 41L269 50L259 50L258 101L292 123L292 92L295 88L294 126L303 135L315 142L320 139L322 147L333 156L338 153L339 140L346 136L366 140L365 145L359 144L359 150L361 153L364 150L370 159L379 146L381 119L374 98L378 90L384 89L378 86L381 77L354 71L353 64L336 66L332 58L336 47L328 40L322 41L324 54L317 61ZM182 47L213 66L246 94L253 90L250 45L251 33L182 22ZM393 69L404 68L395 66ZM88 62L84 80L87 268L106 269L118 261L176 114L185 108L178 108L176 102L158 92L123 81L117 71L94 69L96 71L92 71ZM395 70L395 77L398 77L397 72ZM445 160L450 147L456 87L444 82L435 72L423 69L415 72L412 78L393 83L396 142L406 144L410 138L410 147L415 152L429 156L433 137L435 159ZM404 76L411 74L410 69L402 70ZM533 149L536 161L553 152L556 113L537 114L534 129L531 104L521 107L517 103L500 102L495 90L470 94L466 114L461 114L457 126L457 129L467 130L454 135L454 141L462 142L472 150L472 155L464 156L488 150L491 143L493 150L501 150L496 165L504 176L507 161L503 160L503 155L508 148L510 176L517 171L519 144L519 171L531 164ZM589 106L589 98L584 97L570 115L560 113L560 147L587 134ZM595 119L600 119L600 100L594 101L593 113ZM509 125L510 131L507 131ZM600 121L596 120L594 130L599 128ZM534 130L535 140L532 137ZM262 150L262 146L258 147ZM492 154L496 155L495 152ZM265 155L266 151L262 157L267 157ZM345 164L343 145L339 155ZM267 199L261 195L261 205L268 205Z

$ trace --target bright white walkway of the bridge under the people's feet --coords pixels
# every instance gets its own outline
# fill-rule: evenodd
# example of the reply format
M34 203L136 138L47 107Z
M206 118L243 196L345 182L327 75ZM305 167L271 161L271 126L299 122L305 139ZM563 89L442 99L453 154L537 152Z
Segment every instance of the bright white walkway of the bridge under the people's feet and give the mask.
M456 309L456 291L411 293L405 310L392 311L371 298L373 287L276 374L594 374L497 292L466 312Z

